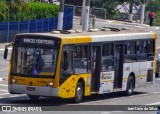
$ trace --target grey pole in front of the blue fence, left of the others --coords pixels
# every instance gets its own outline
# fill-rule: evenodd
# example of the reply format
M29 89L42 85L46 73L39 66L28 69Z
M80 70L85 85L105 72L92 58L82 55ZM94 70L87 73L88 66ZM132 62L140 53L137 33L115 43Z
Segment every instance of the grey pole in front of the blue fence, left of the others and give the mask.
M64 16L64 0L60 0L59 14L58 14L58 25L57 29L63 29L63 16Z

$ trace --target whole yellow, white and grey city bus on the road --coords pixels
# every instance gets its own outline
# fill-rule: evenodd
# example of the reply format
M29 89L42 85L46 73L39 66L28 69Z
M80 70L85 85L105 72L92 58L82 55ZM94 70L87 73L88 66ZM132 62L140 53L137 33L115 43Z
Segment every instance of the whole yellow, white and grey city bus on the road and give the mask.
M11 94L81 102L92 94L125 91L132 95L134 88L154 83L154 32L55 33L16 35L8 75Z

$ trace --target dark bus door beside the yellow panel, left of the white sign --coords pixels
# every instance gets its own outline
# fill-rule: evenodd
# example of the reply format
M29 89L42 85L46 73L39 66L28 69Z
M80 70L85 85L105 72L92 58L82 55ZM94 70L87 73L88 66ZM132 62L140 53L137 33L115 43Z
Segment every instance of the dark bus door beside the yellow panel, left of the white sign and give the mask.
M92 47L92 80L91 91L98 92L101 72L101 46Z

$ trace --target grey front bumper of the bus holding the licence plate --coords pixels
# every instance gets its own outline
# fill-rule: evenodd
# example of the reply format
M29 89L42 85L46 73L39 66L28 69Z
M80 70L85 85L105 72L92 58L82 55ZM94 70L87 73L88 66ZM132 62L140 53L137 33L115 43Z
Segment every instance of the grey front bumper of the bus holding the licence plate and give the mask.
M19 84L9 84L8 90L14 94L28 94L38 96L55 96L58 97L58 88L40 87L40 86L26 86Z

